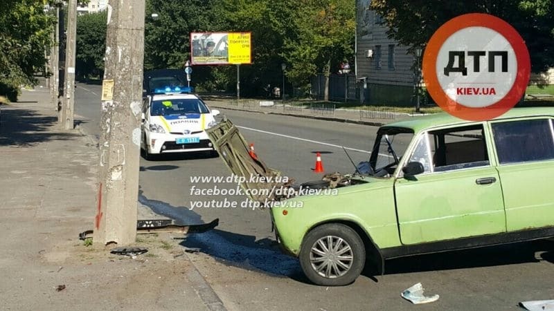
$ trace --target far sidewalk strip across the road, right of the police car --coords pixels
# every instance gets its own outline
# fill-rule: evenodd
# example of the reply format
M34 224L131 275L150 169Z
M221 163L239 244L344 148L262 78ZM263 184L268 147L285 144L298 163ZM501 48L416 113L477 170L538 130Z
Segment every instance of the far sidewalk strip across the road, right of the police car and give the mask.
M390 122L405 120L412 115L395 111L380 109L379 111L357 110L357 109L334 109L332 104L316 105L310 107L307 102L303 106L291 106L285 102L283 106L280 100L240 100L231 98L202 97L204 102L212 109L231 109L239 111L251 111L258 113L290 115L292 117L304 117L309 119L328 120L337 122L348 122L355 124L366 124L381 126ZM273 103L271 106L264 106L265 103Z

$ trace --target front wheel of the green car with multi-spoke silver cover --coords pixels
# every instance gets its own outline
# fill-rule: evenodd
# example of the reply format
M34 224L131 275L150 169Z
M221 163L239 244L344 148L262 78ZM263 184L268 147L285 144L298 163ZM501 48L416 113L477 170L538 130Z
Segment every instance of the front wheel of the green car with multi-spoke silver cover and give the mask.
M332 245L330 250L329 245ZM330 223L308 232L302 243L299 259L304 274L314 284L348 285L364 270L366 248L352 228Z

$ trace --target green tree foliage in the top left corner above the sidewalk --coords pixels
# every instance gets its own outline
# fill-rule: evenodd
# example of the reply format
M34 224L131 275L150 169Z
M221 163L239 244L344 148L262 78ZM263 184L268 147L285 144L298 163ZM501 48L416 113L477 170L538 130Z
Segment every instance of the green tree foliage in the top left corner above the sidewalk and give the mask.
M54 17L45 1L3 0L0 4L0 93L17 96L21 84L36 85L34 73L44 69L51 46Z

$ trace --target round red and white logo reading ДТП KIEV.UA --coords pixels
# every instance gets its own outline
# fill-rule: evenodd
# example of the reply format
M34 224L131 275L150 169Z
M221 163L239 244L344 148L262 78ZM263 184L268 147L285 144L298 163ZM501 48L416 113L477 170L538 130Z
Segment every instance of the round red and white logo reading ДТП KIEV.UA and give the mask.
M447 21L429 40L423 78L433 100L465 120L489 120L525 94L530 58L509 23L472 13Z

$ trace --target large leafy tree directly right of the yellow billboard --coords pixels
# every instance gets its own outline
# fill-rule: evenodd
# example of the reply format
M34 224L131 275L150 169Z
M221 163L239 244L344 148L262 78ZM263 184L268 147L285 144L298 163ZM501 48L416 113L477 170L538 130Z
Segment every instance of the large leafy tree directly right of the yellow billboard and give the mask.
M282 63L289 82L306 87L354 52L353 1L224 0L220 11L230 30L252 32L253 64L241 69L251 90L282 84Z

